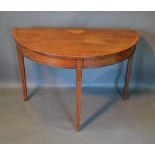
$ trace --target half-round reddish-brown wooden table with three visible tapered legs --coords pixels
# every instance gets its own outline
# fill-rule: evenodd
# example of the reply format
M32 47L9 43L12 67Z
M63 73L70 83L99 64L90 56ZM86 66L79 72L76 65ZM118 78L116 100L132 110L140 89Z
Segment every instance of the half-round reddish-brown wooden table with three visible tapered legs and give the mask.
M128 59L123 98L128 85L137 32L125 29L16 28L13 30L18 50L23 99L27 87L24 56L43 65L76 69L76 120L80 131L82 69L112 65Z

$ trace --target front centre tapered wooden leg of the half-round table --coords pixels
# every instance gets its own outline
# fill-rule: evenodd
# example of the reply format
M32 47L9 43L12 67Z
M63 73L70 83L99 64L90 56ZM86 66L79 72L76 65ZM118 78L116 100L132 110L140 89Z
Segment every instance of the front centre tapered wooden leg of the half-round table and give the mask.
M82 89L82 60L77 61L76 68L76 131L80 131L81 91Z

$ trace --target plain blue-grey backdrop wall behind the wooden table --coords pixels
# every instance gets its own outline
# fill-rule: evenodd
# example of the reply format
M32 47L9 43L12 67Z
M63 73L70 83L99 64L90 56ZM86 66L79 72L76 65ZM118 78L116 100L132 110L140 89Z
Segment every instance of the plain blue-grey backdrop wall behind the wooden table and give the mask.
M155 86L155 12L0 12L0 87L18 87L19 73L14 27L130 28L138 30L131 86ZM75 71L49 68L25 59L29 86L74 86ZM84 70L84 86L113 87L124 83L126 61ZM120 72L122 70L122 72Z

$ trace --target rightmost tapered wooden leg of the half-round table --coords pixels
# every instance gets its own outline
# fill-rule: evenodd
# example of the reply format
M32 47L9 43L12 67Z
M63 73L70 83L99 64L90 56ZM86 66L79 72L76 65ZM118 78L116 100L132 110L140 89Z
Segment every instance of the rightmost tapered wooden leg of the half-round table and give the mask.
M134 56L134 53L128 58L126 77L125 77L125 85L124 85L124 90L123 90L123 99L124 100L126 100L128 98L128 87L129 87L129 81L130 81L130 77L131 77L133 56Z

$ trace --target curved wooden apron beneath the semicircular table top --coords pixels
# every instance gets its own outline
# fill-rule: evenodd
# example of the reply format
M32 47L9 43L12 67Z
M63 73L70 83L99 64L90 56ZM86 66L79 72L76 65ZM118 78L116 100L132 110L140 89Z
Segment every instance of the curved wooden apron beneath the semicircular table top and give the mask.
M39 52L28 50L19 45L17 45L17 49L18 49L18 52L21 52L25 57L39 64L50 66L50 67L66 68L66 69L77 68L78 60L82 60L83 62L82 68L97 68L97 67L108 66L127 59L134 52L134 47L132 47L123 52L121 51L119 54L117 53L116 55L108 55L108 56L96 57L96 58L69 59L69 58L59 58L59 57L39 54Z

